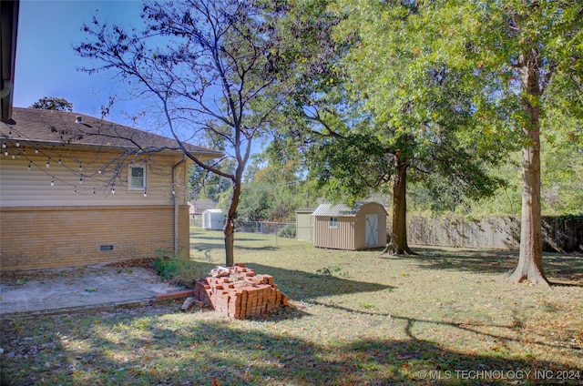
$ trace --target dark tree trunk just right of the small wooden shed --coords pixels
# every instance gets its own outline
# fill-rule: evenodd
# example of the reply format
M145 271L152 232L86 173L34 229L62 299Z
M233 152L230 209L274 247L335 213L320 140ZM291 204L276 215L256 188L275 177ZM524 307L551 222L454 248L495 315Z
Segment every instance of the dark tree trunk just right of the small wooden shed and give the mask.
M383 253L414 255L407 245L407 164L396 157L396 171L393 180L393 227L391 241Z

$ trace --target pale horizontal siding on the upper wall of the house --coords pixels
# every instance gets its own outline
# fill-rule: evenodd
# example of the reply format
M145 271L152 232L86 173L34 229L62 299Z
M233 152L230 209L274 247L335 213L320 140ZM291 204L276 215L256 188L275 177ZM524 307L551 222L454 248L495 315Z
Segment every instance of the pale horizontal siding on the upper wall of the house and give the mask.
M0 157L2 207L169 205L175 198L179 205L186 205L188 163L175 168L175 178L172 180L172 167L179 163L181 157L151 157L145 170L148 197L144 197L143 190L128 188L128 170L121 171L115 185L112 183L114 170L106 166L118 154L101 152L96 155L87 150L59 148L66 157L62 157L61 164L58 163L58 155L51 157L50 168L46 168L46 155L36 155L34 149L27 150L26 157ZM55 150L51 149L53 152ZM173 182L176 196L172 195ZM112 194L112 188L116 189L115 194Z

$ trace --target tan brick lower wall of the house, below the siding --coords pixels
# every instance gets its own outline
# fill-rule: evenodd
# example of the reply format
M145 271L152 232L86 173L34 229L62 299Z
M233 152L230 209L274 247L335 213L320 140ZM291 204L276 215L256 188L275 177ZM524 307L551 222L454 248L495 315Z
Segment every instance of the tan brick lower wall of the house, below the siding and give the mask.
M0 208L0 270L50 269L173 254L174 208ZM113 246L112 250L108 246ZM179 208L179 255L189 254L189 210Z

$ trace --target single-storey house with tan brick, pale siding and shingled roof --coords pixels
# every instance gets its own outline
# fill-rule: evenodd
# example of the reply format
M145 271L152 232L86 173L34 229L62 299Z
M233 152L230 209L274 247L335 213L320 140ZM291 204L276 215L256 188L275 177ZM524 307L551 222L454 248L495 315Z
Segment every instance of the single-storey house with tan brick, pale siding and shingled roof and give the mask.
M0 141L1 270L189 256L189 158L176 140L13 107ZM202 161L221 156L186 147Z

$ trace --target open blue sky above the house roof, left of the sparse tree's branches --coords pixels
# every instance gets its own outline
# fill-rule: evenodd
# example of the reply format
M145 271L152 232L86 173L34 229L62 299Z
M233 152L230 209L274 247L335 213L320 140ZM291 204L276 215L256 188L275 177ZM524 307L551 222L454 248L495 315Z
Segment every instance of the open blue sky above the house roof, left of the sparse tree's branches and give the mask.
M30 107L44 96L64 97L73 111L101 116L101 105L118 93L119 83L107 74L88 75L79 67L97 66L77 56L73 46L85 40L81 26L94 15L120 25L141 22L138 0L21 0L15 66L15 107ZM107 120L128 124L132 102L120 103Z

